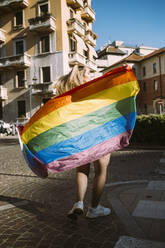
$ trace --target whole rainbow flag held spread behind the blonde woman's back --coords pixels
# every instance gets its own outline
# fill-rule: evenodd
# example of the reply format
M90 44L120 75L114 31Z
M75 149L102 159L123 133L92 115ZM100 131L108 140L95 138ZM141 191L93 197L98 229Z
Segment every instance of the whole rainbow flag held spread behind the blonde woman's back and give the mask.
M127 65L49 100L19 130L30 168L45 178L128 146L138 91Z

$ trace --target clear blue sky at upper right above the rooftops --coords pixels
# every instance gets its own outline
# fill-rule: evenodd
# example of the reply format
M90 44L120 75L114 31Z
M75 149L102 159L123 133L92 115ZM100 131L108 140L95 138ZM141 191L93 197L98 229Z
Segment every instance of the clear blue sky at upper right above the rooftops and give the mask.
M92 8L96 49L114 40L165 47L165 0L92 0Z

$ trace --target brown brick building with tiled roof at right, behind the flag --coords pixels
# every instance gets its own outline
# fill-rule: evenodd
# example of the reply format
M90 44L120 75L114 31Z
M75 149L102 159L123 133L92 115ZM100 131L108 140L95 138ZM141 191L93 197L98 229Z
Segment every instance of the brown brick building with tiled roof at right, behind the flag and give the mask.
M128 57L104 69L130 65L140 86L137 96L138 114L165 114L165 48L142 56L134 51Z

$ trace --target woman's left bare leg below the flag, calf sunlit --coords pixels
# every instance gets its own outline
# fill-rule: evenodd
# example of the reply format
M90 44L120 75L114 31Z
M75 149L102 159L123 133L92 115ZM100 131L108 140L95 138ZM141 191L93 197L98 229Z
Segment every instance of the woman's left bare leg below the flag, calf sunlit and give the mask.
M77 201L83 201L88 186L88 177L90 164L83 165L77 168Z

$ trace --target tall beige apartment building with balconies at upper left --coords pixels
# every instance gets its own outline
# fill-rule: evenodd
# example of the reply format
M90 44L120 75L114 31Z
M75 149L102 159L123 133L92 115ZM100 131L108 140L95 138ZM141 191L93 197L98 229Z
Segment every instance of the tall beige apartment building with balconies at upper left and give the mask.
M0 1L0 119L29 118L74 64L97 70L91 0Z

